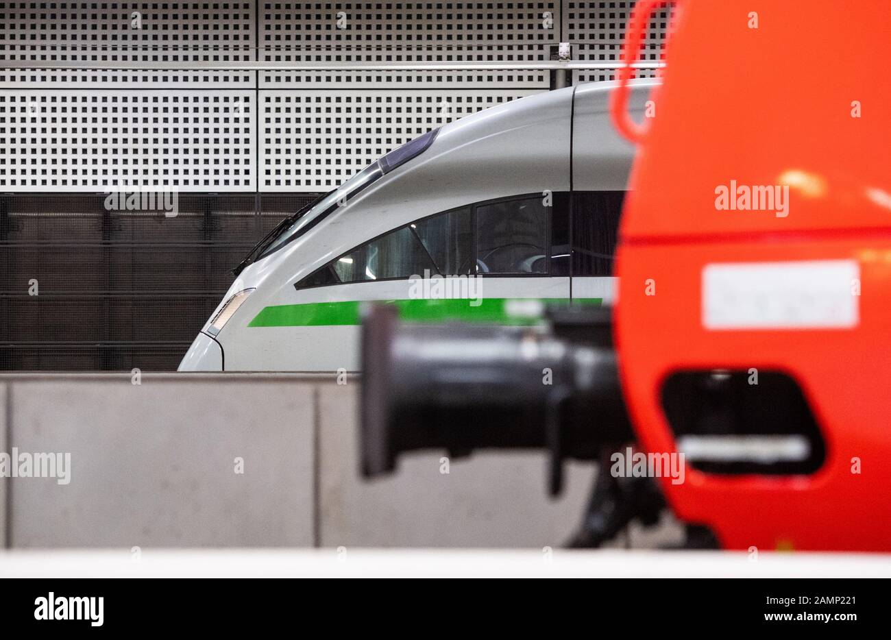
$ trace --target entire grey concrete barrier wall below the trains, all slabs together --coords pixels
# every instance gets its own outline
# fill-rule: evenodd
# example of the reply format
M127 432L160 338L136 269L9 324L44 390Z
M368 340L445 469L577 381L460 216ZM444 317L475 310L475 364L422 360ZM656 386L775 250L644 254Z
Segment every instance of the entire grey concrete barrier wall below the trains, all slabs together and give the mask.
M0 451L71 456L68 484L0 480L3 544L540 549L580 521L593 467L569 465L551 500L541 454L417 454L362 480L358 390L333 374L0 375Z

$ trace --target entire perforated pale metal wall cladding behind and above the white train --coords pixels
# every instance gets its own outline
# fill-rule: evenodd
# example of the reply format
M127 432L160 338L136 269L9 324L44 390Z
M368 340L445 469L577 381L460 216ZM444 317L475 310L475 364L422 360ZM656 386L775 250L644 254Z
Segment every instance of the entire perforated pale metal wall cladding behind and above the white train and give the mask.
M577 57L617 61L633 4L0 2L0 62L530 62L561 34ZM668 16L651 21L647 59L661 56ZM0 70L0 191L327 190L413 135L549 81L543 71ZM90 88L53 88L70 86Z

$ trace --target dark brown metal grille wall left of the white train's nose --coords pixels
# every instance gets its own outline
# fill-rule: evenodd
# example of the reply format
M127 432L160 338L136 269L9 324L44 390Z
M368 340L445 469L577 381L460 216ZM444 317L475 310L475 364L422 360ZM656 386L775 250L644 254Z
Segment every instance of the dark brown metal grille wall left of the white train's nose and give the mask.
M263 234L313 194L0 196L0 370L173 370Z

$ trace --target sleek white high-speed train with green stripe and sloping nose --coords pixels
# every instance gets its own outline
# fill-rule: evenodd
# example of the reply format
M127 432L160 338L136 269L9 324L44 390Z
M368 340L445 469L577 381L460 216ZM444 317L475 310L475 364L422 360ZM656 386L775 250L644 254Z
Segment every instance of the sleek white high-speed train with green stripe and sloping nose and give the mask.
M650 88L633 83L642 118ZM251 251L180 371L355 371L363 304L520 324L528 300L610 304L634 147L612 83L538 94L389 152ZM523 302L527 300L527 302Z

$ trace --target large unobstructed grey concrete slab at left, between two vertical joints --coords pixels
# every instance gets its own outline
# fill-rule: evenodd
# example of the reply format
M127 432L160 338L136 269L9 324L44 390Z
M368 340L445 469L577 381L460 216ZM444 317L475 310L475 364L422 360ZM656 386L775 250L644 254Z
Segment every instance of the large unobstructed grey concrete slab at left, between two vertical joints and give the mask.
M7 480L7 546L311 546L314 387L220 375L5 379L6 451L70 453ZM238 468L243 461L243 472Z

